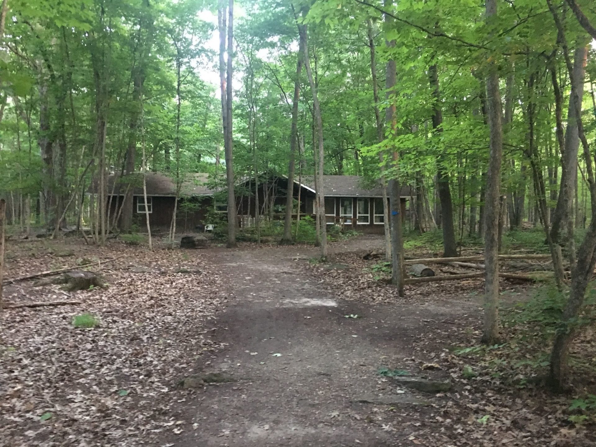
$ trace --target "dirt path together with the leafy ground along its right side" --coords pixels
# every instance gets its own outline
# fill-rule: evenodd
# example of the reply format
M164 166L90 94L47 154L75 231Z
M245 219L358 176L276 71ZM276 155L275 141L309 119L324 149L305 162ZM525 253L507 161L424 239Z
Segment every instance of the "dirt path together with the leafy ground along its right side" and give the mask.
M380 243L335 243L330 257ZM226 347L198 371L224 371L235 381L188 392L175 418L193 428L170 433L164 445L591 445L565 423L568 403L462 380L462 361L448 349L479 337L481 281L411 288L409 299L391 299L387 286L384 295L342 287L333 270L308 266L316 254L302 246L207 254L233 298L213 335ZM504 287L512 296L524 291ZM451 379L454 387L415 392L377 375L381 366Z

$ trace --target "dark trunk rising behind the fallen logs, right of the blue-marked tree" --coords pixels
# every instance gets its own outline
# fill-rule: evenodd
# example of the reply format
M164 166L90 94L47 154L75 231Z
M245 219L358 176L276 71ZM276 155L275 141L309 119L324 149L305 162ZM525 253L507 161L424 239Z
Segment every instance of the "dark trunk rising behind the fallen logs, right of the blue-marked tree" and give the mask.
M429 67L430 86L433 89L433 129L436 134L443 132L443 113L440 104L439 75L437 65ZM451 191L449 190L449 173L439 159L437 165L437 187L441 204L441 222L443 226L443 256L457 256L457 244L455 243L455 228L453 225L453 204Z

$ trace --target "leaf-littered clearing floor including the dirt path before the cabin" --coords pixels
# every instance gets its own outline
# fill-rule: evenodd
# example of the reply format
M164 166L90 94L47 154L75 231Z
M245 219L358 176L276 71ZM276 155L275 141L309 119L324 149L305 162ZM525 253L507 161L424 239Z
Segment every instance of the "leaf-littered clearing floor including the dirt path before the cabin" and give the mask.
M452 348L479 338L482 281L411 287L399 299L361 265L380 245L333 243L331 260L345 264L330 268L309 265L317 249L305 246L151 254L112 244L127 256L107 269L108 291L75 293L75 308L2 315L0 445L594 445L567 422L568 400L462 377ZM32 269L21 257L11 274ZM132 273L139 265L150 271ZM502 287L508 302L526 293ZM10 300L46 293L21 290ZM83 311L101 327L69 327ZM452 389L421 393L380 367ZM205 373L229 381L178 386Z

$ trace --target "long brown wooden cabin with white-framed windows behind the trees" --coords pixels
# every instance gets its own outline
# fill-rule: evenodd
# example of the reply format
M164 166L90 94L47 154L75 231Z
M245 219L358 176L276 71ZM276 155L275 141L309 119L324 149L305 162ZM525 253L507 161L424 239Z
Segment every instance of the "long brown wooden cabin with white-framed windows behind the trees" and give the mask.
M120 184L117 176L108 178L107 194L110 221L119 216L125 194L133 194L134 221L142 228L145 225L145 207L142 181L136 181L135 187ZM114 183L115 182L115 183ZM328 225L341 225L366 233L383 232L383 193L380 183L372 188L361 185L356 175L324 175L325 214ZM206 173L193 173L182 184L181 197L176 213L178 232L203 231L205 225L212 224L215 213L227 216L225 191L207 186ZM140 184L140 186L139 186ZM163 173L148 173L147 202L151 228L169 229L175 205L176 185ZM294 182L294 203L300 194L300 215L314 217L315 188L312 177L305 177L302 182ZM287 178L280 175L262 175L259 178L259 216L261 220L281 220L287 195ZM242 179L238 182L236 204L238 225L252 226L256 216L254 180ZM95 191L93 191L95 192ZM401 213L406 215L406 201L410 197L409 188L401 193ZM296 214L294 213L294 216Z

